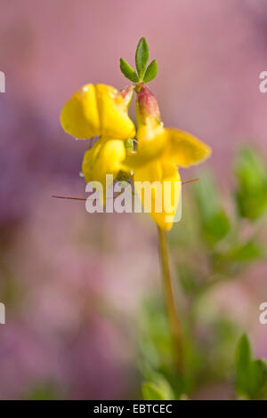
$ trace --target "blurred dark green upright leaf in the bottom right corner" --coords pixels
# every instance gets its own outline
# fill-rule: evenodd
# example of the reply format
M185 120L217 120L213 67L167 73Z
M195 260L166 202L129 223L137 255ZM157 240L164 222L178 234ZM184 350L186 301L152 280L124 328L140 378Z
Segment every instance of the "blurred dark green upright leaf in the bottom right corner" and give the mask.
M251 356L247 335L241 336L236 352L237 392L249 399L263 398L267 394L267 364Z

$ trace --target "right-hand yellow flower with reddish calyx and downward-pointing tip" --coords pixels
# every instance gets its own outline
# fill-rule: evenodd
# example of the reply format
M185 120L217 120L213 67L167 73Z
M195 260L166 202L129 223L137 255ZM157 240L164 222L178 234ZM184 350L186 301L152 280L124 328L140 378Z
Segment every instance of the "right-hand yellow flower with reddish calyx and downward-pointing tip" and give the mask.
M150 90L142 86L137 98L138 148L126 158L125 166L134 170L135 181L159 181L161 196L154 193L150 216L161 229L171 229L181 188L178 166L189 167L209 157L211 149L203 142L173 128L164 128L160 120L158 102ZM176 189L175 189L176 187ZM147 209L143 189L136 189ZM159 192L158 192L159 193ZM161 213L157 201L163 202Z

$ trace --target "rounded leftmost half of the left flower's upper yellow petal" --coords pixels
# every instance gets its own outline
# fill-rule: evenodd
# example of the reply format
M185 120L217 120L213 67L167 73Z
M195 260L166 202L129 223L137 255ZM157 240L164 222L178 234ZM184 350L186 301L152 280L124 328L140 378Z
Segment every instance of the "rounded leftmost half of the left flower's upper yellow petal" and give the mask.
M61 125L69 135L88 139L100 135L100 117L93 84L85 84L61 111Z

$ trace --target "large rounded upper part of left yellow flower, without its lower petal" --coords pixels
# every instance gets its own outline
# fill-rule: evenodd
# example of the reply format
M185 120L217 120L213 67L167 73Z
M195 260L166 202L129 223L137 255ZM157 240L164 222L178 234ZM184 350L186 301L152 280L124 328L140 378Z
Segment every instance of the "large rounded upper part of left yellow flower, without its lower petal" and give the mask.
M128 99L128 98L127 98ZM135 134L128 117L128 100L110 85L85 84L61 111L63 129L79 139L93 136L124 140Z

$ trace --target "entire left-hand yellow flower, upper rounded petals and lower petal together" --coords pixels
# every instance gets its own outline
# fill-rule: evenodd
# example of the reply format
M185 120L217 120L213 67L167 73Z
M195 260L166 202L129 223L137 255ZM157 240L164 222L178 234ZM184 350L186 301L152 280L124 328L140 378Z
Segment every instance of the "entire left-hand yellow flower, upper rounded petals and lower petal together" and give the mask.
M124 140L135 135L134 123L127 113L133 88L118 92L105 84L85 84L61 111L61 125L70 135L80 139L101 137L85 152L82 172L86 182L101 182L104 197L106 188L112 186L112 181L106 181L106 174L113 174L116 179L125 159ZM101 203L104 205L104 198Z

